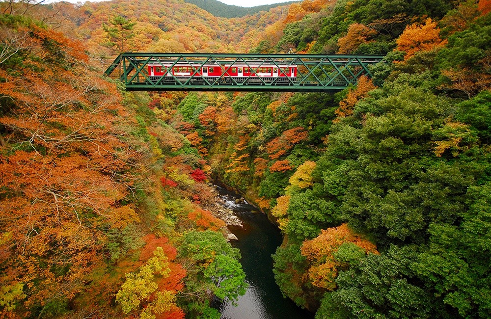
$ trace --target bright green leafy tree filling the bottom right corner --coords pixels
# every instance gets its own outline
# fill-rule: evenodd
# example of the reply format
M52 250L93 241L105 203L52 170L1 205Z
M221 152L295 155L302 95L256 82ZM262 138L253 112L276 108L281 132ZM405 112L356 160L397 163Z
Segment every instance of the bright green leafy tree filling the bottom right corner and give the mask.
M442 296L463 318L486 318L491 313L491 183L468 189L469 209L459 225L430 225L429 250L412 268L427 291Z

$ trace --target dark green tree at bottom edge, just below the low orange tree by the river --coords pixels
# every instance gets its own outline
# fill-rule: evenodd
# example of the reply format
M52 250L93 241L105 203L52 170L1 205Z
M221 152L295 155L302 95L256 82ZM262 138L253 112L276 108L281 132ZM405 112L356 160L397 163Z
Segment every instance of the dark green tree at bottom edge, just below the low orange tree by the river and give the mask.
M414 284L409 267L416 246L393 246L387 255L339 252L339 262L350 264L336 278L338 289L327 292L316 319L327 318L437 318L432 295Z

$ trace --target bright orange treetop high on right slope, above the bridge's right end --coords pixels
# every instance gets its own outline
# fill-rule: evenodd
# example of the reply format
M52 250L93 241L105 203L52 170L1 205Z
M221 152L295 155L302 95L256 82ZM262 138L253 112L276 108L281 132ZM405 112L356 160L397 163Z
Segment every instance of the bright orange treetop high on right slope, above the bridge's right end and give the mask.
M427 19L424 25L414 23L407 26L396 40L397 50L406 52L404 59L407 60L416 52L441 48L447 40L440 39L439 34L440 28L431 19Z

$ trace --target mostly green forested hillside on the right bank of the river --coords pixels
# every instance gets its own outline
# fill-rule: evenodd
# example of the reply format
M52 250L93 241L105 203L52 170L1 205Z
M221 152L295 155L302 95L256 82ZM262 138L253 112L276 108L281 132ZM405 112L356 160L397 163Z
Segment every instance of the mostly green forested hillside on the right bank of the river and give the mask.
M277 283L317 318L486 318L490 3L398 3L339 0L263 43L386 54L373 79L193 93L169 124L276 220Z

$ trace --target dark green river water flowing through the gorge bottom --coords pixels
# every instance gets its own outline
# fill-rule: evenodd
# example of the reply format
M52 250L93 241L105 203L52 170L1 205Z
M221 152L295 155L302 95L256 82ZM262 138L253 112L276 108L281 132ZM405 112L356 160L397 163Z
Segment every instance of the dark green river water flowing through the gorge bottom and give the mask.
M233 196L240 196L224 188L218 188L227 207L242 220L244 228L229 227L238 241L232 245L241 250L241 264L246 272L249 288L238 300L238 306L223 303L222 319L313 319L314 315L298 307L290 299L283 298L274 281L271 254L281 244L281 233L262 213L248 204L235 204Z

